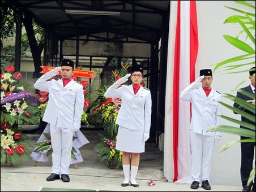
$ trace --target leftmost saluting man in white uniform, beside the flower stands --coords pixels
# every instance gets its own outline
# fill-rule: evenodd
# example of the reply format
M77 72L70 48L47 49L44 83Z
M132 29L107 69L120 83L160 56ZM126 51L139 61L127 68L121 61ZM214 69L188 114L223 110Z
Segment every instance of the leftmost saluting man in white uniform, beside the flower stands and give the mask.
M61 70L62 79L52 78ZM46 106L43 121L50 124L52 141L52 174L46 181L61 179L69 182L69 166L73 134L80 129L84 106L83 86L72 80L74 62L63 59L61 67L56 67L45 73L36 81L36 89L47 91L49 101Z

